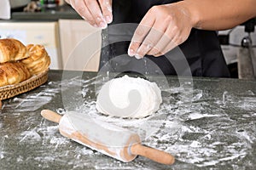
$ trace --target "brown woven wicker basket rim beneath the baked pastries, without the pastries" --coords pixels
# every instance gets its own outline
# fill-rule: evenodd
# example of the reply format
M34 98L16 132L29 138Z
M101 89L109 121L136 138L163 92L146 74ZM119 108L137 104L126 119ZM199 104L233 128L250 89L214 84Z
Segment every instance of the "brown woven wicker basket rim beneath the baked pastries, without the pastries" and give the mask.
M48 80L48 71L44 71L37 76L33 76L24 82L14 85L8 85L0 88L0 103L3 99L9 99L18 94L23 94L27 91L37 88ZM1 109L1 106L0 106Z

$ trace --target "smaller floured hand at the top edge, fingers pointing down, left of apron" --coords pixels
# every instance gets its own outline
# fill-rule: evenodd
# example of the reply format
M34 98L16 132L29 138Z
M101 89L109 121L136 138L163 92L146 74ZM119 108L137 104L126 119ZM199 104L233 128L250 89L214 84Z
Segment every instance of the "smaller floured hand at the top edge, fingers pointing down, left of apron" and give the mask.
M106 28L113 20L112 0L66 0L91 26Z

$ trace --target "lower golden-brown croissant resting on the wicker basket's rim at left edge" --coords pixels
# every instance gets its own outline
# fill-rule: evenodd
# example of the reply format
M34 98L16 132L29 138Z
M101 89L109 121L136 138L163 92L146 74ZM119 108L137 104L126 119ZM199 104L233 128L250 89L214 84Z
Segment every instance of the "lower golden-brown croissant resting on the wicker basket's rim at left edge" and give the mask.
M0 64L0 87L23 82L31 77L26 65L20 62Z

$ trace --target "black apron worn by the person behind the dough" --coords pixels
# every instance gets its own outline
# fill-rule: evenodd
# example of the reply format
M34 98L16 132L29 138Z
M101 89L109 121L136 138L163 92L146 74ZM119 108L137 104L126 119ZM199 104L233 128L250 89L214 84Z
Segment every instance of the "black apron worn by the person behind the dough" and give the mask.
M102 31L101 71L194 77L230 77L216 31L192 29L189 38L165 56L127 54L137 24L154 5L172 0L113 0L113 22Z

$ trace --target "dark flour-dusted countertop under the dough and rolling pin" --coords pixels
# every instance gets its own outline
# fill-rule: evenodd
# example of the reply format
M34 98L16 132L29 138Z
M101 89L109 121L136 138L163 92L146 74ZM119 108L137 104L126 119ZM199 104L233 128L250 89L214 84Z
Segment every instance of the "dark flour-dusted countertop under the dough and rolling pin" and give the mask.
M114 160L62 137L40 111L83 111L106 118L95 109L95 89L108 77L92 72L49 71L39 88L3 101L0 111L1 169L253 169L256 165L256 82L222 78L153 77L163 103L142 129L158 127L143 144L176 157L172 166L142 156L129 163ZM182 86L179 84L184 82ZM143 120L107 117L109 122L137 127ZM157 126L159 125L159 126ZM127 126L127 124L126 124ZM128 127L130 128L130 127Z

